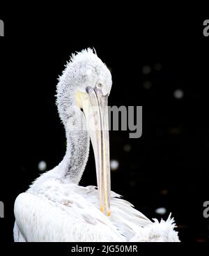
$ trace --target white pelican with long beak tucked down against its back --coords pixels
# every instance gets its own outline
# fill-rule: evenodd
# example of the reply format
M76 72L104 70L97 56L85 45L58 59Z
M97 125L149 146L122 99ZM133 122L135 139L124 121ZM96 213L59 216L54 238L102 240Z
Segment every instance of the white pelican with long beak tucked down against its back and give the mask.
M107 98L111 73L95 50L72 54L56 87L63 160L15 200L15 242L179 241L171 214L149 220L110 189ZM79 186L93 145L98 187Z

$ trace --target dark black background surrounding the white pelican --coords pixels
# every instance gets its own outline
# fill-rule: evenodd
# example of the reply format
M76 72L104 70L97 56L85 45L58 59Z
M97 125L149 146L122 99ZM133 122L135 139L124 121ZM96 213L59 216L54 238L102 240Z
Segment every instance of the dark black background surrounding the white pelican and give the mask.
M209 196L209 37L203 36L203 21L209 17L187 8L159 13L105 6L111 10L105 14L103 7L91 15L65 6L63 15L47 8L33 15L0 12L3 239L13 241L15 197L40 175L39 161L50 170L64 156L65 134L54 104L57 78L72 52L95 47L112 71L109 105L143 106L141 138L110 132L111 159L119 161L111 189L148 218L172 212L181 241L208 241L203 202ZM146 65L148 75L142 73ZM173 97L176 89L183 98ZM81 182L90 184L95 184L93 151ZM167 209L164 216L155 213L159 207Z

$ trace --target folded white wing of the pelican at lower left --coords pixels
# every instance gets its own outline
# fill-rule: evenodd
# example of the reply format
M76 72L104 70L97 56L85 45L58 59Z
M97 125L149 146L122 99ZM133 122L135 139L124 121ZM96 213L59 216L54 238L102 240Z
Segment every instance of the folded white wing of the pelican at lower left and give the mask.
M93 222L88 217L83 219L69 214L49 200L30 193L22 193L15 200L15 221L22 238L28 242L70 242L70 241L124 241L116 228L107 222ZM72 208L72 207L71 207ZM77 216L78 217L78 216ZM17 239L18 236L16 235Z

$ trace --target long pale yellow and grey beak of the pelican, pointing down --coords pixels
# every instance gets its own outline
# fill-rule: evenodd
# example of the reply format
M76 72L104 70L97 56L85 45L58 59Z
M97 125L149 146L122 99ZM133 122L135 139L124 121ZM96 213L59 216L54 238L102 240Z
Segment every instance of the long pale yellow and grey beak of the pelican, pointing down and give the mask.
M100 210L110 216L109 127L107 98L100 89L77 91L77 105L83 109L88 133L93 146L100 194Z

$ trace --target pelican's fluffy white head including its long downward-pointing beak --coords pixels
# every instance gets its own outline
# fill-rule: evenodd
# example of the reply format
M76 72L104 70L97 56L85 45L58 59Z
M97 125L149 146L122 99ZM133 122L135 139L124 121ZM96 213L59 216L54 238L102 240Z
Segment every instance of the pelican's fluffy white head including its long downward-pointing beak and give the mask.
M110 215L109 128L107 98L111 73L93 50L72 54L57 85L56 103L66 133L88 131L95 156L100 209Z

